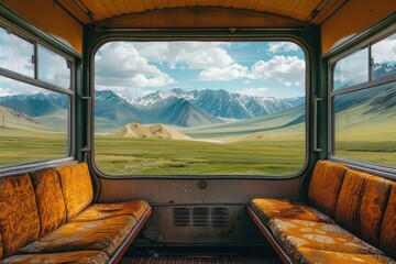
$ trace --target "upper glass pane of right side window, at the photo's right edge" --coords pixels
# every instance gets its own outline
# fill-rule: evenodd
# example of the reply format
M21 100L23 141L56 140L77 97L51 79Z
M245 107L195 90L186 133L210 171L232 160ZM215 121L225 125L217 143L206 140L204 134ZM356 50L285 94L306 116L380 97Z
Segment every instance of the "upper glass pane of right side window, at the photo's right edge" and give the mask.
M396 74L396 34L372 45L373 79Z

